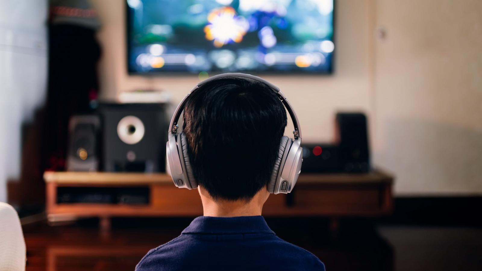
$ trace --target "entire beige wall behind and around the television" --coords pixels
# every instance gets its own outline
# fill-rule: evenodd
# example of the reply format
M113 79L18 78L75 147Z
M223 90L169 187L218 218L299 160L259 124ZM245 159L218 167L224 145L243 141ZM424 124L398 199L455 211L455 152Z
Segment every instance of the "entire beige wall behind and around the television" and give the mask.
M196 76L128 76L123 0L92 0L103 28L101 95L163 89L177 103ZM305 142L333 138L336 110L369 115L374 164L399 195L482 193L479 0L337 0L335 74L267 76L296 108ZM376 26L385 40L375 40Z

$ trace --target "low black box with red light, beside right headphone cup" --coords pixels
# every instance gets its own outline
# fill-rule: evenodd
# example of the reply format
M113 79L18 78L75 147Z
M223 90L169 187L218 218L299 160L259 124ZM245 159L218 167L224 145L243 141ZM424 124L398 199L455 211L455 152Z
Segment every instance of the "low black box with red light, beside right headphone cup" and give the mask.
M302 144L303 163L301 172L330 173L342 171L339 148L333 144Z

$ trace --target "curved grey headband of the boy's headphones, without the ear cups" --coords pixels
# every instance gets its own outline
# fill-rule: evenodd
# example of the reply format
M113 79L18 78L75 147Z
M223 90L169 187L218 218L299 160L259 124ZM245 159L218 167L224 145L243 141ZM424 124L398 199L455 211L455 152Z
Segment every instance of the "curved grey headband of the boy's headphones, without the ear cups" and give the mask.
M276 93L276 95L278 95L278 98L280 98L284 107L286 108L286 110L288 110L288 113L290 114L291 120L293 121L293 126L295 127L295 130L293 131L293 135L295 136L295 139L298 138L298 137L301 138L301 128L299 127L298 117L296 116L295 109L291 106L288 99L286 99L286 96L281 92L280 88L278 88L277 86L273 85L272 83L270 83L270 82L268 82L268 81L266 81L266 80L264 80L260 77L257 77L257 76L251 75L251 74L246 74L246 73L238 73L238 72L230 72L230 73L222 73L222 74L214 75L213 77L210 77L210 78L208 78L204 81L199 82L182 99L182 101L179 103L179 105L175 109L174 114L173 114L173 118L171 119L171 122L169 124L169 133L171 133L171 134L177 133L177 129L179 128L179 126L177 125L177 122L179 121L179 117L181 116L181 112L184 110L184 106L186 105L187 97L189 97L189 95L191 95L199 87L201 87L202 85L204 85L204 84L206 84L210 81L214 81L214 80L221 79L221 78L229 78L229 77L240 77L240 78L245 78L245 79L251 79L251 80L258 81L258 82L261 82L261 83L265 83L266 85L268 85L269 88L271 88Z

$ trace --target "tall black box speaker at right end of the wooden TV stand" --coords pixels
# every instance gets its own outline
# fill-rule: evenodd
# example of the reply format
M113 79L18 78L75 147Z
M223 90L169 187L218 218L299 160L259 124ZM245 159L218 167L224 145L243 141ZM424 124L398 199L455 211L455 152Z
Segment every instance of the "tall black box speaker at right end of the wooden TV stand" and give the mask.
M363 113L337 113L339 159L345 172L370 171L367 120Z

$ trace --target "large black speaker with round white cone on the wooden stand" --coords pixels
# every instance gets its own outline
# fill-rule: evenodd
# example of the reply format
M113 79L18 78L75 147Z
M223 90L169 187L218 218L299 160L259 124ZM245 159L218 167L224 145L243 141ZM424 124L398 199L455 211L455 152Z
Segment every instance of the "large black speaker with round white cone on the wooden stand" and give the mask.
M164 104L104 104L103 167L107 172L164 172Z

